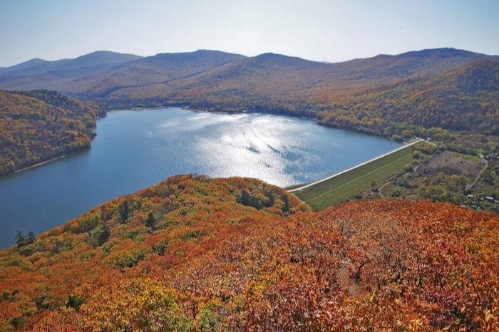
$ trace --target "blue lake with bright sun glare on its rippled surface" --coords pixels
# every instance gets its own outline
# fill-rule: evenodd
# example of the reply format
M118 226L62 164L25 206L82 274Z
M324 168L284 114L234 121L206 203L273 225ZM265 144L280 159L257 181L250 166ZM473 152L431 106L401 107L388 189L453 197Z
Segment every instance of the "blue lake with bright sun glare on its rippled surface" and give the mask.
M0 247L16 230L43 232L93 206L182 173L311 182L400 144L262 113L180 108L115 110L98 120L91 149L0 177Z

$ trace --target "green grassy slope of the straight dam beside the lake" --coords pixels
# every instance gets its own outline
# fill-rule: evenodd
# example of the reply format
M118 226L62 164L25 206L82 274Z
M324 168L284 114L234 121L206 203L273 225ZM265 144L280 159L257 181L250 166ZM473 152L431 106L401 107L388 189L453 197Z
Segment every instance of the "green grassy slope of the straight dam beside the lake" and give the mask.
M403 170L406 165L411 165L412 152L413 146L406 147L293 194L307 202L315 211L325 209L368 189L372 180L382 182Z

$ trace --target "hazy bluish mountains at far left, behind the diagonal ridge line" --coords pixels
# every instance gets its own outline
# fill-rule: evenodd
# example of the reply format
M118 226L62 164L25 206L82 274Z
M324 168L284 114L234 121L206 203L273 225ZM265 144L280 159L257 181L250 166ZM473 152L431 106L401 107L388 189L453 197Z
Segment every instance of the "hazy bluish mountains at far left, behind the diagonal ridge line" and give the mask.
M9 90L50 88L66 93L100 96L128 86L190 76L242 57L204 50L160 53L146 58L94 52L71 61L51 61L26 71L0 74L0 87Z

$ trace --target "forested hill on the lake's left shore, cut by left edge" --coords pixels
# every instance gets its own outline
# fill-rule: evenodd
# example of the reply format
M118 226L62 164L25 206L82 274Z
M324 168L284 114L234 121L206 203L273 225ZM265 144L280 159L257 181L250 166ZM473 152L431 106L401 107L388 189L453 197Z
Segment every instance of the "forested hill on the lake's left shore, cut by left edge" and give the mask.
M0 175L89 147L103 114L55 91L0 90Z

